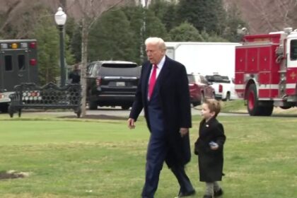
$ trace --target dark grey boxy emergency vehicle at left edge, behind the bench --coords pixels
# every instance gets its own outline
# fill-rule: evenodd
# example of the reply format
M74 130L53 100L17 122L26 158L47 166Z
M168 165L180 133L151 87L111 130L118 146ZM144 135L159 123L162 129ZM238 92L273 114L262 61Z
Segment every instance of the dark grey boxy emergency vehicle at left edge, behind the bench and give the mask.
M38 83L36 40L0 40L0 112L7 112L9 95L21 83Z

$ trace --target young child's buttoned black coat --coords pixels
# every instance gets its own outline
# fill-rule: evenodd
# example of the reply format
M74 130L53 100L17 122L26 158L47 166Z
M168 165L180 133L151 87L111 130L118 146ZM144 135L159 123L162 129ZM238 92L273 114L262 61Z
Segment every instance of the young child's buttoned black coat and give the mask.
M217 150L211 150L209 142L219 144ZM199 125L199 138L195 142L195 153L199 159L199 177L201 182L221 181L223 175L223 144L226 141L223 125L211 118L202 120Z

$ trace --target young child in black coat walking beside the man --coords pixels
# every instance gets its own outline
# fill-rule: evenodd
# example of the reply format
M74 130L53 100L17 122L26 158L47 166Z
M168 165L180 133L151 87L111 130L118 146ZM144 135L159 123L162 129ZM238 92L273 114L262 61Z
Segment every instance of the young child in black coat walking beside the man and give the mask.
M200 122L194 153L198 155L200 182L206 182L203 198L219 197L223 194L218 181L221 181L223 175L223 144L226 136L223 125L216 120L220 111L221 105L217 100L206 100L202 104L203 120Z

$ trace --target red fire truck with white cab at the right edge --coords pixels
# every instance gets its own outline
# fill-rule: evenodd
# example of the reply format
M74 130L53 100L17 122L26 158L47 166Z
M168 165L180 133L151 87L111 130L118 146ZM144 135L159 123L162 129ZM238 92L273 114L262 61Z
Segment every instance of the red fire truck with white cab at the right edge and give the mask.
M250 115L297 105L297 30L245 35L235 49L235 90Z

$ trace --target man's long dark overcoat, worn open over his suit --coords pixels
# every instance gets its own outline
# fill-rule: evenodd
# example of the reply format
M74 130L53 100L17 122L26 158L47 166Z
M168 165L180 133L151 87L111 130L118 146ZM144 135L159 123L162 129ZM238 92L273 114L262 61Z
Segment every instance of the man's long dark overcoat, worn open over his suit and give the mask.
M148 78L151 74L151 63L145 62L141 69L141 78L136 91L134 104L130 112L135 121L144 108L144 116L148 129L150 120L148 118ZM173 59L165 57L165 62L157 78L160 88L161 107L164 118L166 140L170 146L166 163L170 166L174 163L185 165L190 161L190 139L189 134L180 136L180 127L192 127L189 83L185 66ZM154 90L155 91L155 90Z

